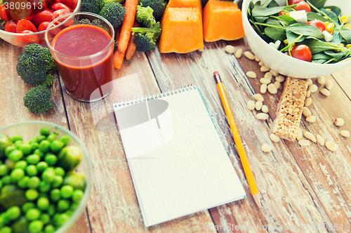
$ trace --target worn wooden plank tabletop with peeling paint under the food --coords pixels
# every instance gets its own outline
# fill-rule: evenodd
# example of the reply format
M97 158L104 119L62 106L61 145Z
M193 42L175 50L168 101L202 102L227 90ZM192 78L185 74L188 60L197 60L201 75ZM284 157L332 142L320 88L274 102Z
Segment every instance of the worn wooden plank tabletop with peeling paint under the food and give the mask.
M325 76L334 84L331 95L312 93L309 108L317 121L310 123L303 117L300 125L303 131L334 141L338 150L331 152L317 143L302 148L297 141L270 141L282 87L277 94L263 94L270 118L257 120L258 111L249 111L246 103L253 99L253 94L260 92L260 83L258 79L246 78L244 73L253 70L259 77L264 73L259 71L257 62L244 56L235 59L234 55L227 54L226 44L225 41L205 43L203 52L185 55L160 54L157 48L146 54L136 52L131 62L124 62L122 69L114 72L115 78L137 73L145 95L191 83L197 85L247 194L241 201L145 228L112 113L112 103L120 93L114 91L95 105L83 104L62 92L60 81L55 78L51 87L54 108L40 115L30 113L23 106L22 98L31 86L25 84L15 70L22 48L0 41L0 127L24 120L55 122L77 134L90 154L93 164L91 197L86 211L69 232L208 232L214 228L218 232L267 232L267 227L269 232L347 232L351 229L351 139L339 134L342 129L351 131L351 66ZM249 50L245 39L230 44ZM216 70L223 79L262 195L261 209L250 194L225 119L212 77ZM322 86L317 85L320 90ZM105 115L98 117L96 123L95 113L102 108ZM333 125L336 118L343 118L345 125ZM260 150L263 143L271 144L272 152L263 153ZM329 230L324 230L324 224Z

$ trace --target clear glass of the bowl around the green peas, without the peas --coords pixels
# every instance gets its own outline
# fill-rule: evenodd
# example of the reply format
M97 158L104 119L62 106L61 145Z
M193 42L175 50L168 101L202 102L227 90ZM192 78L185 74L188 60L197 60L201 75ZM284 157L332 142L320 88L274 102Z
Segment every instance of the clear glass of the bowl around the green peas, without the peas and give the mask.
M91 192L91 161L88 157L88 151L86 150L85 146L79 138L73 134L71 131L68 129L65 129L64 127L60 125L56 125L51 122L44 122L44 121L25 121L25 122L18 122L13 125L8 125L6 127L3 127L0 129L0 134L6 134L11 138L11 136L19 134L22 136L23 141L29 141L32 139L34 136L39 136L39 131L42 127L48 127L50 129L50 132L56 132L58 133L58 138L62 135L68 135L69 136L69 146L78 146L81 148L83 151L83 157L81 158L81 163L79 164L79 167L77 168L77 171L81 174L84 174L86 176L86 189L84 190L84 196L81 199L81 202L79 203L79 206L77 209L73 212L72 216L67 220L67 222L62 225L58 230L55 231L55 233L63 233L66 232L74 222L81 216L81 213L84 211L86 208L86 203L88 202L88 197Z

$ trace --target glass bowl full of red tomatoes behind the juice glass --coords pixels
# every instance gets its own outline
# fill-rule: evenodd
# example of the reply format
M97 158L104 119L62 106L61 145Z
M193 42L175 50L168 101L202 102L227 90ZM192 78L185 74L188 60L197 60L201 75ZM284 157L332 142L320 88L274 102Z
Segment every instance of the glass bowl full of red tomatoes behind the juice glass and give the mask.
M81 0L4 0L0 5L0 38L20 47L44 45L48 24L80 9Z

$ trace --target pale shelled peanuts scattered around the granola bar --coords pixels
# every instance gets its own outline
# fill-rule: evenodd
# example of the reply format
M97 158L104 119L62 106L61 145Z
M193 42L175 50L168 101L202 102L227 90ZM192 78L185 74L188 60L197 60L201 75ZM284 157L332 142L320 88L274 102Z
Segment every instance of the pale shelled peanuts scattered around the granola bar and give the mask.
M234 47L232 45L227 45L225 47L225 51L228 53L235 52ZM239 49L237 50L237 52L235 52L235 57L240 58L242 54L243 54L243 51ZM258 59L258 57L256 57L256 55L254 55L252 52L246 51L244 52L244 56L248 59L255 60L256 62L258 62L258 64L260 65L260 71L265 72L265 75L263 76L263 78L260 78L260 83L261 83L260 92L262 94L265 94L268 91L270 92L270 94L277 94L277 90L279 90L282 84L284 84L284 80L285 80L284 76L282 76L281 74L277 73L277 71L274 71L270 69L268 66L266 66L265 64L263 64L263 62L261 62L260 59ZM246 76L248 76L249 78L258 78L257 74L253 71L246 72ZM274 81L273 81L273 77L274 77ZM312 115L308 107L312 104L311 94L314 92L317 92L319 87L316 84L314 84L312 82L312 79L310 78L307 78L306 82L308 85L308 89L306 93L305 106L303 107L303 115L305 116L305 119L307 122L313 123L317 120L317 118L314 115ZM333 88L333 81L326 80L322 76L317 78L317 83L320 85L320 87L322 87L320 88L319 92L321 94L324 94L324 96L328 97L331 94L331 89ZM254 94L253 99L255 99L256 102L251 100L251 101L248 101L247 103L247 107L249 108L249 110L252 111L253 109L256 109L257 111L262 111L263 113L258 113L256 115L256 118L258 120L267 120L269 118L269 115L267 114L268 107L263 104L263 100L264 100L263 96L261 94ZM334 120L334 125L341 127L344 125L344 120L342 118L336 118L336 120ZM348 132L347 130L341 130L340 135L344 137L349 137L350 132ZM270 134L270 139L274 142L279 142L280 140L279 137L276 136L275 134ZM307 132L307 131L303 132L301 128L298 129L297 140L300 146L309 146L310 141L312 141L314 143L319 143L320 146L326 146L326 148L328 148L331 151L338 149L338 145L333 141L325 142L323 137L320 136L319 134L314 136L314 134L312 134L311 132ZM261 150L263 152L270 152L272 150L272 146L265 143L261 147Z

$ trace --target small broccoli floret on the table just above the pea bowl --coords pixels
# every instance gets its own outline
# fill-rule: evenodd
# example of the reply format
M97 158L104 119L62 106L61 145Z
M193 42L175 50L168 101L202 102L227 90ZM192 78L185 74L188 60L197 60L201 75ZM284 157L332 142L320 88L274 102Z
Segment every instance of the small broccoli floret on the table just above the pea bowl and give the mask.
M32 113L44 113L53 108L51 91L43 85L32 87L23 97L23 103Z

